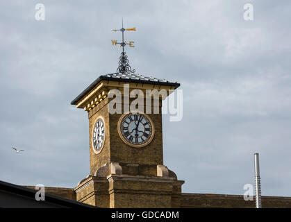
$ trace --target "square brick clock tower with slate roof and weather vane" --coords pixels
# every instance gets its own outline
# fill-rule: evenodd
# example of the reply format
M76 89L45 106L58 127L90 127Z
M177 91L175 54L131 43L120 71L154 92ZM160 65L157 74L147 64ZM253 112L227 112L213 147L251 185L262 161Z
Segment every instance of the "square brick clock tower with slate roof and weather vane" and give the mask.
M126 42L117 44L123 49ZM179 85L133 74L123 49L117 72L99 76L72 101L88 112L90 141L90 175L74 189L76 200L111 208L180 207L184 181L163 165L161 106L165 96L155 97L156 102L153 97L143 98L144 112L126 111L134 100L126 96L134 90L144 94L147 89L163 90L167 96ZM111 89L120 92L115 106L120 105L122 112L110 112L113 99L117 101L117 96L110 96Z

